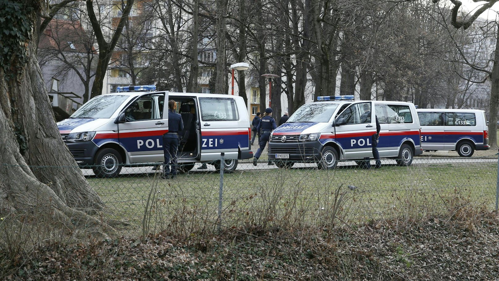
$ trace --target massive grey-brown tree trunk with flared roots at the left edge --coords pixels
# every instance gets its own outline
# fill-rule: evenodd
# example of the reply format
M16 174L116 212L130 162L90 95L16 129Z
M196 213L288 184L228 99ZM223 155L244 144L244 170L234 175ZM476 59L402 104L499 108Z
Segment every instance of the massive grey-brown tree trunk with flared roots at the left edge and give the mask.
M36 1L24 4L33 11L13 25L28 24L30 39L23 40L26 48L9 46L14 52L22 49L26 59L13 56L3 66L16 69L14 73L0 67L0 208L56 209L96 222L76 210L102 209L104 204L60 137L36 58L37 29L32 27L42 7Z

